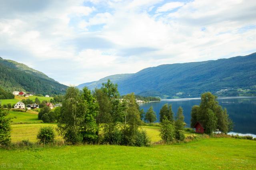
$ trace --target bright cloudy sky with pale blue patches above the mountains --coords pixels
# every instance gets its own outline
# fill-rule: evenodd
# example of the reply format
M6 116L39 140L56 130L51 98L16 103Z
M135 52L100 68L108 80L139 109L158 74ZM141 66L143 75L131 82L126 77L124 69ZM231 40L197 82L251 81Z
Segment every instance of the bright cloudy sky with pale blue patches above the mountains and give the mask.
M78 85L256 52L256 0L0 0L0 57Z

